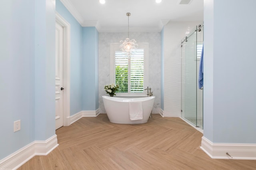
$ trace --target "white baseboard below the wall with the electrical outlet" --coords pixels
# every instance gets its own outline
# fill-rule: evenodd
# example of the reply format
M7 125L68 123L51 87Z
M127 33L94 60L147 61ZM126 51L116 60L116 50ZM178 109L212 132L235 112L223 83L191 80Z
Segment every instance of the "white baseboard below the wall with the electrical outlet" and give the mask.
M17 169L36 155L47 155L58 146L57 135L45 141L34 141L0 160L0 170Z

